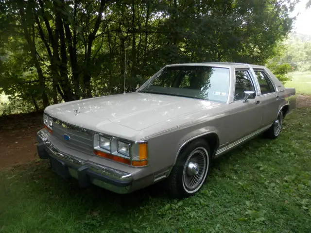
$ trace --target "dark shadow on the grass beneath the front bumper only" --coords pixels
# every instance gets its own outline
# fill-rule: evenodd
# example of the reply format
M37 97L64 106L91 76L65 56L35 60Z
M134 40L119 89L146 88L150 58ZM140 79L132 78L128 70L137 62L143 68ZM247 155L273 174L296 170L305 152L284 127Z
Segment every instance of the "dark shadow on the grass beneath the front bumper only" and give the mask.
M143 206L150 199L167 199L164 184L155 183L130 194L116 194L104 188L91 185L80 188L74 178L64 179L54 173L49 161L39 161L37 168L25 174L29 192L44 197L43 201L57 200L69 205L88 206L87 211L103 207L105 211L127 211ZM34 182L31 182L33 180ZM48 200L47 200L48 199Z

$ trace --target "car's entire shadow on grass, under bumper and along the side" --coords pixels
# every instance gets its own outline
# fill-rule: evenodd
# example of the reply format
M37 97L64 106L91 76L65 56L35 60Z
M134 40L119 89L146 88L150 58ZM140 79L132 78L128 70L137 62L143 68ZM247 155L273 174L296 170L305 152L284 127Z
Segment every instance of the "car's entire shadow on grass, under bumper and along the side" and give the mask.
M258 136L243 144L242 147L220 156L213 161L209 176L213 176L215 170L220 170L221 172L221 167L223 166L234 165L237 161L243 160L252 151L260 150L260 147L268 141L270 140ZM91 185L88 188L80 188L77 180L74 178L64 179L54 173L48 161L39 161L37 164L36 168L27 174L28 178L25 178L28 181L35 180L35 184L29 186L33 193L46 193L48 196L52 196L52 198L57 197L57 199L64 201L74 202L78 199L80 203L92 208L104 206L106 209L115 209L119 206L123 210L139 208L150 199L168 199L163 181L133 193L121 195L95 185ZM40 185L37 185L37 183L40 183Z

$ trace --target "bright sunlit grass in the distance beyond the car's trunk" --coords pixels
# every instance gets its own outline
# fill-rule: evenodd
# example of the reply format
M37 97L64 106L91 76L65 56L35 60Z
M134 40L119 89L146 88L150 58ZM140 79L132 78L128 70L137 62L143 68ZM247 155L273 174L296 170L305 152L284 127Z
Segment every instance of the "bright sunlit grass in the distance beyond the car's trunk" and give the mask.
M293 72L289 76L292 77L292 81L285 84L286 87L296 88L298 94L311 95L311 71L305 72Z

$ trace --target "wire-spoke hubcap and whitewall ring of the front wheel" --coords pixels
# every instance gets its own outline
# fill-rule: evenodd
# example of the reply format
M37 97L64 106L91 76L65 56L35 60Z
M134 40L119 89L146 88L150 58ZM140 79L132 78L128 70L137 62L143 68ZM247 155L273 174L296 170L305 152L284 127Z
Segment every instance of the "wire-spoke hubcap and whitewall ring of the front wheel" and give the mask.
M201 187L207 174L208 162L208 154L204 148L197 148L191 152L183 171L183 185L189 193Z

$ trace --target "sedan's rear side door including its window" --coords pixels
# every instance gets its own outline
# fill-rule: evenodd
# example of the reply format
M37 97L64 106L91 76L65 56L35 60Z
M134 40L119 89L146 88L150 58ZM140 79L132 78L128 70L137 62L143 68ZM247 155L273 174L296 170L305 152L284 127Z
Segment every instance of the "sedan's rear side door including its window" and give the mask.
M271 78L264 69L255 69L254 71L260 87L259 96L262 107L262 126L267 126L276 119L280 97L276 92Z

